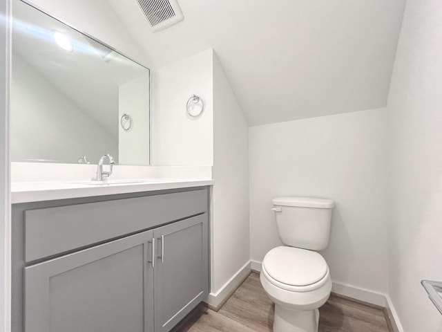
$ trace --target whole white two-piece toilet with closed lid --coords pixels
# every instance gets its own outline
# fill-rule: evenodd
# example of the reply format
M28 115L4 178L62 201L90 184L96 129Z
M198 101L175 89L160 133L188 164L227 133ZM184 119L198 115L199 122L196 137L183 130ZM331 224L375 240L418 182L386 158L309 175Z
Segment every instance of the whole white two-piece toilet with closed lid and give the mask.
M329 298L332 279L316 250L328 245L334 202L278 197L272 203L285 244L267 252L260 273L262 287L275 303L273 332L317 332L318 308Z

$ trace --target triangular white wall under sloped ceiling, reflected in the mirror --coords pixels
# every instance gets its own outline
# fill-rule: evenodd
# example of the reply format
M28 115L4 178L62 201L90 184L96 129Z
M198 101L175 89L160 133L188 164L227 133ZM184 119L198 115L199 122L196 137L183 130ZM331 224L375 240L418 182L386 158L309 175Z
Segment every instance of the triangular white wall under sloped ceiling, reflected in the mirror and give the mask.
M118 142L44 77L12 55L12 160L45 159L95 162L104 153L118 158ZM39 93L34 93L39 86ZM48 104L48 100L51 103ZM35 138L38 138L36 140ZM93 142L93 144L91 144Z

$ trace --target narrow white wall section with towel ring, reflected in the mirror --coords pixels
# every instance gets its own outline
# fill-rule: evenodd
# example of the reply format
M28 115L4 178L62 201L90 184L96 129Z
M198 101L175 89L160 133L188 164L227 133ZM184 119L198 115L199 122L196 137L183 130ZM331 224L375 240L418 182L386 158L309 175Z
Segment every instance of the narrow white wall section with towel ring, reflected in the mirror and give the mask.
M126 113L132 125L124 130L118 122L118 163L125 165L149 164L149 76L142 75L118 89L118 119ZM124 122L123 122L124 123Z

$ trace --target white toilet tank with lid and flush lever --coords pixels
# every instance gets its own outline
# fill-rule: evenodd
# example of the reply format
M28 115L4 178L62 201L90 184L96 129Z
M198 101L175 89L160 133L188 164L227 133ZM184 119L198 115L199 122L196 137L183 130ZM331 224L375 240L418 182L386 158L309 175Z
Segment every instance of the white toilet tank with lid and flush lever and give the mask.
M282 243L309 250L327 247L334 207L332 200L278 197L272 203Z

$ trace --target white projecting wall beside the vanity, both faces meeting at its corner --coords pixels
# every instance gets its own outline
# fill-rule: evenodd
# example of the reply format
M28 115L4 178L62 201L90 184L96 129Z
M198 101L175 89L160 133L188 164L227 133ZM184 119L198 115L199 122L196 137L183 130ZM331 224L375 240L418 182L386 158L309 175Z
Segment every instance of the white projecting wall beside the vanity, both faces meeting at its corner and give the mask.
M153 82L153 165L213 165L211 293L228 293L250 259L247 121L211 49L158 68ZM198 118L186 114L193 93L204 100Z

